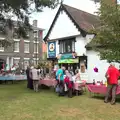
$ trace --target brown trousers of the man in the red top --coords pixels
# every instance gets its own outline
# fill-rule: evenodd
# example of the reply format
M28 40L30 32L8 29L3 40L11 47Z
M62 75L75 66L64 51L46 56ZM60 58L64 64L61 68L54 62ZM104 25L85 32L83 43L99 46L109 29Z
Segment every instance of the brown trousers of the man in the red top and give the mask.
M112 97L111 101L115 102L115 100L116 100L116 90L117 90L117 85L116 84L108 85L107 86L107 93L106 93L106 96L105 96L105 101L108 101L108 99Z

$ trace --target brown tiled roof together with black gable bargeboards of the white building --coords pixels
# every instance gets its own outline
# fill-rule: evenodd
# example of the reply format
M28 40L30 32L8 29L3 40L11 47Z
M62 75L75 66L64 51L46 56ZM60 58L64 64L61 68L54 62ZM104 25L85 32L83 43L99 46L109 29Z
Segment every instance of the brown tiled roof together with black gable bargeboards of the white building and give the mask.
M49 35L54 27L56 20L60 14L60 11L65 11L71 21L74 23L76 28L81 32L83 36L86 36L86 33L91 33L90 31L99 27L100 20L99 17L85 11L70 7L68 5L62 4L50 26L50 29L45 36L44 40L46 41L49 38Z

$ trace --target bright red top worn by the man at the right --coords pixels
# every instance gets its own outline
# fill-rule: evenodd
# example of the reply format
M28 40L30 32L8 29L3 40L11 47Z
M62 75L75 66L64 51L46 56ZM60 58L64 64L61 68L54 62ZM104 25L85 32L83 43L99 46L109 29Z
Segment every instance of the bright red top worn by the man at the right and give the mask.
M109 67L107 70L108 83L109 84L118 84L118 78L120 76L119 71L114 66Z

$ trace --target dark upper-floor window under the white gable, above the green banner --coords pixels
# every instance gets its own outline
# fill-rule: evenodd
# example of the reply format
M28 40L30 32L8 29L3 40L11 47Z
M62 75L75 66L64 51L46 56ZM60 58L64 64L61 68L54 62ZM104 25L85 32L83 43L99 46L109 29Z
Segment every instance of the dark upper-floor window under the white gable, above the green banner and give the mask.
M75 40L61 40L60 42L60 53L71 53L75 51Z

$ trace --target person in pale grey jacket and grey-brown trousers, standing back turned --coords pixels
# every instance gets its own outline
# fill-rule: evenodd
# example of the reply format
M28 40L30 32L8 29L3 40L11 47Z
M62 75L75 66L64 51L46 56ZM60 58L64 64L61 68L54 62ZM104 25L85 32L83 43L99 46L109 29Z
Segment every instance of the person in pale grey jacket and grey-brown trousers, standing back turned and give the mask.
M35 92L38 92L39 87L39 72L36 68L33 67L31 70L31 78L33 80L33 88Z

